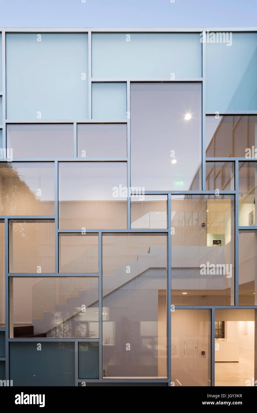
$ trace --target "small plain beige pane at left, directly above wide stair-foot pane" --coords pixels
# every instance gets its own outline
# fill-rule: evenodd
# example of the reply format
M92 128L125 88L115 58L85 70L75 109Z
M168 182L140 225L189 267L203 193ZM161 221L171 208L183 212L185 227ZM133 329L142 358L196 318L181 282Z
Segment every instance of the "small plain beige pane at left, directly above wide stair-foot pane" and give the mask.
M9 220L9 273L54 273L54 220Z

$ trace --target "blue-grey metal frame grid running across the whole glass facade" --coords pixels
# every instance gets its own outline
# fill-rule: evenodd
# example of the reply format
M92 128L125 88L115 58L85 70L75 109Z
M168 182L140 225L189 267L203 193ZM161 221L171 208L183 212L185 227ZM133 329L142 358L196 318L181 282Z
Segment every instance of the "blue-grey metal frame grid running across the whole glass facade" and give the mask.
M92 119L92 82L126 82L127 83L127 111L130 112L130 82L172 82L167 78L92 78L92 34L94 33L203 33L206 31L220 32L220 31L230 31L232 33L256 33L257 27L198 27L198 28L0 28L2 32L2 91L0 95L2 96L2 136L3 136L3 148L6 148L6 126L10 123L13 124L44 124L44 123L73 123L73 158L14 158L13 161L21 162L45 162L53 161L54 162L54 183L55 183L55 199L54 199L54 216L0 216L0 219L5 222L5 328L0 328L0 331L5 331L5 358L0 358L0 360L5 361L6 366L6 379L9 379L9 342L19 342L19 341L33 341L33 342L52 342L52 341L71 341L75 345L75 386L78 386L80 382L134 382L134 383L148 383L148 382L164 382L171 384L171 243L172 237L170 234L171 228L171 195L178 194L191 194L191 195L208 195L215 194L215 191L206 191L205 186L205 176L206 176L206 161L233 161L235 164L235 190L231 191L220 191L220 194L234 195L235 196L235 305L234 306L175 306L175 309L210 309L211 311L211 385L215 385L215 342L214 342L214 330L215 330L215 309L257 309L257 306L239 306L238 305L238 237L239 230L257 230L257 226L252 227L241 227L238 225L238 208L239 208L239 199L238 199L238 162L239 161L256 161L256 159L245 159L244 157L230 157L230 158L207 158L205 155L205 119L206 115L213 115L212 112L206 112L206 44L202 44L202 77L200 78L177 78L177 82L201 82L202 83L202 190L199 191L159 191L151 190L146 191L147 194L153 195L167 195L167 214L168 214L168 227L167 229L131 229L130 226L130 197L127 202L127 229L92 229L87 230L87 233L98 233L99 238L99 272L98 273L83 273L83 274L67 274L67 273L58 273L58 238L61 233L76 233L80 232L81 229L59 229L58 227L58 164L62 161L126 161L127 162L127 185L130 186L130 117L128 119ZM88 119L70 119L70 120L42 120L31 121L31 120L8 120L6 119L6 69L5 69L5 35L6 33L88 33L88 102L89 102L89 116ZM223 115L247 115L253 114L256 115L257 111L235 111L235 112L224 112ZM77 150L77 124L78 123L126 123L127 124L127 157L126 158L78 158ZM5 161L5 159L0 159L0 161ZM8 234L8 221L10 219L54 219L55 220L55 273L45 273L42 274L44 277L56 277L56 276L97 276L99 277L99 339L10 339L9 338L9 291L8 291L8 281L9 277L24 277L24 276L38 276L38 274L24 274L24 273L9 273L8 272L8 249L9 249L9 234ZM102 377L102 346L99 345L99 379L78 379L78 342L99 342L102 341L102 234L104 233L154 233L154 232L163 232L167 233L168 237L168 280L167 280L167 379L107 379Z

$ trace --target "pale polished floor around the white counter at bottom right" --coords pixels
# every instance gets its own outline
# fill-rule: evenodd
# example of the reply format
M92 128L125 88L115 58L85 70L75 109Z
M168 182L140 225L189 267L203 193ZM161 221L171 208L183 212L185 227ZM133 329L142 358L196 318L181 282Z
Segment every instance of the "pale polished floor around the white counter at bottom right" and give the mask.
M246 386L252 377L254 351L240 349L239 363L215 363L215 386Z

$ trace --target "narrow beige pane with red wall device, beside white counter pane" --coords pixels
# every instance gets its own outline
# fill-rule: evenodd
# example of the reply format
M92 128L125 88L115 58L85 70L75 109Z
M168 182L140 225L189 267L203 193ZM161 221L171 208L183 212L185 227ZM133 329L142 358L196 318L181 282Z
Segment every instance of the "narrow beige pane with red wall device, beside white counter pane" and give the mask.
M171 313L171 380L174 386L211 385L211 311Z

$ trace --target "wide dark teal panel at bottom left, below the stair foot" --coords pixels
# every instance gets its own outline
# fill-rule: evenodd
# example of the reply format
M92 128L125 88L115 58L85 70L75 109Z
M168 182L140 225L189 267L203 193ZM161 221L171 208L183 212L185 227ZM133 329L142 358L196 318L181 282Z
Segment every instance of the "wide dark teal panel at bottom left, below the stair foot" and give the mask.
M74 386L72 342L10 342L9 378L14 386Z

